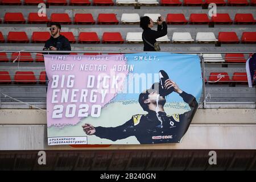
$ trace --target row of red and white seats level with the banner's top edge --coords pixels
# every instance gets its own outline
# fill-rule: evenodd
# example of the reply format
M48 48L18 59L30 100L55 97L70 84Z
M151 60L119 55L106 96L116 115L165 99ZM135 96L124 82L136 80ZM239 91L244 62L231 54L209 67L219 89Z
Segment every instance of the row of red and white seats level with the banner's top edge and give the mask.
M101 53L84 53L84 55L100 55ZM110 53L111 54L111 53ZM77 53L71 53L77 55ZM246 63L247 58L250 57L243 55L243 53L226 53L223 58L220 53L204 53L203 58L205 63ZM15 61L16 63L32 63L34 62L31 53L29 52L14 52L11 54L10 59L5 52L0 52L0 63L9 63ZM36 53L35 62L43 63L44 57L42 53Z

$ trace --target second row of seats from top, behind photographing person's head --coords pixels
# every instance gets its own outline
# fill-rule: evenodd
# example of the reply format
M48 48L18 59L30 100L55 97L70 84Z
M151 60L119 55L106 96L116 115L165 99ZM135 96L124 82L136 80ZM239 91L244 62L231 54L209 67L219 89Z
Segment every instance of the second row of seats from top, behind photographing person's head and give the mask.
M153 22L156 23L156 20L160 16L160 14L144 14L144 16L149 16ZM0 23L2 20L0 19ZM39 16L38 13L30 13L28 14L27 23L48 23L48 22L57 22L61 24L71 24L72 20L69 18L67 13L52 13L51 19L45 16ZM121 23L122 24L136 24L140 22L139 14L122 14ZM216 16L212 16L212 19L208 18L207 14L192 13L187 20L184 14L167 14L166 23L167 24L255 24L256 20L251 13L244 14L236 14L234 16L234 22L230 18L229 14L216 14ZM22 13L5 13L5 17L3 19L3 23L26 23L26 19ZM82 14L77 13L74 17L74 24L95 24L92 14ZM117 19L114 13L110 14L98 14L97 24L119 24L119 20Z

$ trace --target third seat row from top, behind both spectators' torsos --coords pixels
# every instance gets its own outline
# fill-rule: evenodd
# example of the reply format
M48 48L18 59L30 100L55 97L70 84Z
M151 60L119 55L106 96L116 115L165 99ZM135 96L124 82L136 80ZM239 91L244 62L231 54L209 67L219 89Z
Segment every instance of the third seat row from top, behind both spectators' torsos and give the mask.
M69 42L76 43L73 32L61 32ZM50 38L49 32L33 32L31 36L31 43L45 43ZM163 36L156 39L158 42L170 43L168 36ZM26 32L9 32L7 36L7 43L29 43L30 40ZM80 32L78 43L97 44L101 40L98 38L96 32ZM102 43L117 43L122 44L123 40L120 32L104 32L102 35ZM142 32L127 32L127 43L142 43ZM189 32L174 32L172 34L172 43L194 43L195 40ZM213 32L197 32L196 43L240 43L236 32L219 32L218 39L216 39ZM5 38L0 32L0 43L5 43ZM241 36L241 43L256 43L256 32L243 32Z

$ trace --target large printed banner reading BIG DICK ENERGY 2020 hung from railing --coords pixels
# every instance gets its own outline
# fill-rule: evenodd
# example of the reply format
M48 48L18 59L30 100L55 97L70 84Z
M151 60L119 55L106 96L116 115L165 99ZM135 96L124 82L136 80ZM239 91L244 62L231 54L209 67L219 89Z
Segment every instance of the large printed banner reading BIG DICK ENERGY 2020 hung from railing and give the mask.
M48 145L180 143L202 92L197 55L44 55Z

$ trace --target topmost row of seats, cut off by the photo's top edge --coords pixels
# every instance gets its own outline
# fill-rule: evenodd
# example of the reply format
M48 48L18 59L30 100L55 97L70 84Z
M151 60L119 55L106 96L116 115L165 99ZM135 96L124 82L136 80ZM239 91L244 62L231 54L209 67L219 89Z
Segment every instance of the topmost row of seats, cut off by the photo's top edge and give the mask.
M24 5L38 5L39 3L47 3L48 5L71 5L71 6L203 6L208 5L209 3L216 3L218 6L255 6L255 0L116 0L115 3L113 0L92 0L92 3L89 0L24 0ZM22 5L21 0L2 0L2 5Z

